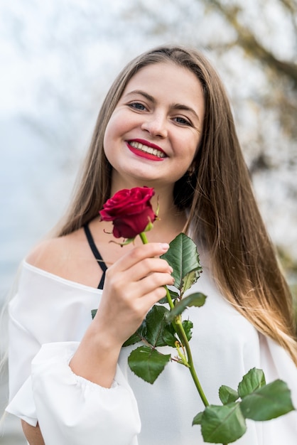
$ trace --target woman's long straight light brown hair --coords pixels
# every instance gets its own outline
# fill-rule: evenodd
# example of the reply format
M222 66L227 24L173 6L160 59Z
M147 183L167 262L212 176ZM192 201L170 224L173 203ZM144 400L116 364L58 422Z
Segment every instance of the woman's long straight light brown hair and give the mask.
M254 199L225 88L197 50L154 48L119 73L100 109L79 188L57 235L67 235L88 223L109 198L112 166L103 149L107 123L131 77L146 65L161 62L191 70L205 99L194 173L186 173L175 183L175 204L188 209L193 235L205 240L222 293L261 333L282 345L297 365L291 294Z

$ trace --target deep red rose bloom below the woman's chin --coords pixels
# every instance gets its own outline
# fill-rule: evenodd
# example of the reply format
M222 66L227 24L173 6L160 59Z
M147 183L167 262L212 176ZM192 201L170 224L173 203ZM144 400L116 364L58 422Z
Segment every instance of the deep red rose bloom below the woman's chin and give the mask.
M156 219L150 203L154 194L148 187L120 190L104 203L99 211L101 220L112 221L114 237L135 238Z

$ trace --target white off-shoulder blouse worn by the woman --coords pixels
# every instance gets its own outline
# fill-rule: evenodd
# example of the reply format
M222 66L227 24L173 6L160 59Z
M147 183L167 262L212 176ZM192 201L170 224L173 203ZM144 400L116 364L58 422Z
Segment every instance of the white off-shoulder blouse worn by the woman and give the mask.
M202 263L203 265L203 263ZM217 290L207 267L190 291L207 300L183 317L193 321L195 368L210 403L218 389L237 389L251 368L266 382L281 378L297 407L297 368L286 351L262 336ZM46 445L201 445L192 427L204 407L190 372L168 363L153 385L127 365L122 348L110 389L75 375L68 363L92 321L102 291L57 277L23 262L18 294L11 300L9 390L6 411L33 426L39 422ZM171 348L159 348L172 352ZM175 355L175 354L174 354ZM296 445L297 412L269 422L247 421L239 445Z

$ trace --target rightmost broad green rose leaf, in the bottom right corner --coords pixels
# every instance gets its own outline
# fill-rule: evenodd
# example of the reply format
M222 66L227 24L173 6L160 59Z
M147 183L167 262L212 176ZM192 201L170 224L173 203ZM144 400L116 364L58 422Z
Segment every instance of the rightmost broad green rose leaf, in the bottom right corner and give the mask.
M240 409L247 419L274 419L294 410L291 391L282 380L274 380L244 397Z

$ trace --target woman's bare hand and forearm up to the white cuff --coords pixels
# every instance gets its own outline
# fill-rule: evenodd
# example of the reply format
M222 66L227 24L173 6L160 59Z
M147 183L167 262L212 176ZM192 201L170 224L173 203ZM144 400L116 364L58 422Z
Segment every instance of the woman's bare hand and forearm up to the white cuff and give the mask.
M173 284L171 267L159 258L168 248L157 242L134 247L107 269L97 314L70 362L77 375L112 385L121 345Z

